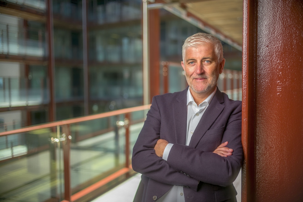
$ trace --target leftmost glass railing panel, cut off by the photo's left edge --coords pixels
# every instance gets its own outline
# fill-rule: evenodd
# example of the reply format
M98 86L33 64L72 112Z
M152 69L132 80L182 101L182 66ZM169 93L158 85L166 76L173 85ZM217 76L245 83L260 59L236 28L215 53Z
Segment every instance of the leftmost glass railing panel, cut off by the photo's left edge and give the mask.
M57 127L0 137L1 201L61 201L62 142Z

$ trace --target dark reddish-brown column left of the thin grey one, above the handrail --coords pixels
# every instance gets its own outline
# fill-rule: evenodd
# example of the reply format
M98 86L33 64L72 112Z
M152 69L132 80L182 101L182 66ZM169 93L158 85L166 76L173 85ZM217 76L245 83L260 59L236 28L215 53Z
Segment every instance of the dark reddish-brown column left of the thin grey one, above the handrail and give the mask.
M47 42L48 42L48 79L49 79L49 120L56 120L56 103L55 103L55 58L54 58L54 24L53 24L53 2L47 0Z

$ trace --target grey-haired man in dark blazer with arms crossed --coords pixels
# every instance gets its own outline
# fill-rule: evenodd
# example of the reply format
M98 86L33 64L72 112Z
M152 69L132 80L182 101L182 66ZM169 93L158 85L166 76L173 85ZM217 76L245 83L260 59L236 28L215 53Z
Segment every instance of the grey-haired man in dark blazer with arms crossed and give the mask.
M132 168L142 173L135 200L236 201L241 102L216 86L225 64L221 42L197 33L185 40L182 57L189 88L153 98L133 149Z

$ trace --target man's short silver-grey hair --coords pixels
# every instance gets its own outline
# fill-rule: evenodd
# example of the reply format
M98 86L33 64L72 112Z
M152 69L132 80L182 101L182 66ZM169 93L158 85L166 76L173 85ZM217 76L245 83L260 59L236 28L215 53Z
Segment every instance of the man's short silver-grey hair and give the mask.
M221 41L210 34L206 33L197 33L188 37L182 46L182 60L184 62L185 58L185 50L189 47L197 48L198 45L202 45L205 43L210 43L215 47L215 53L217 55L219 63L223 60L223 46Z

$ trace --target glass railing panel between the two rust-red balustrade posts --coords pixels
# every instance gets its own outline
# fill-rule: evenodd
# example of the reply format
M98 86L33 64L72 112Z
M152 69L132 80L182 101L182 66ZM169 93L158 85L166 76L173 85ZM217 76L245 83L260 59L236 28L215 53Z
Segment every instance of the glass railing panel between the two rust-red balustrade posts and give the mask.
M118 115L71 124L72 194L125 167L125 128L118 125L124 118Z

